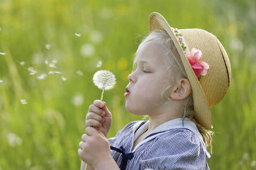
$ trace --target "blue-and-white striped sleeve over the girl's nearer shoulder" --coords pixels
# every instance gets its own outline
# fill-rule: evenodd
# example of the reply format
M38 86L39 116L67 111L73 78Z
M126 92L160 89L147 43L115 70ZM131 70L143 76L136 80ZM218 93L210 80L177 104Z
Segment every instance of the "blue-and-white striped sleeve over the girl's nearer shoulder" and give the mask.
M140 163L145 168L161 166L163 169L204 169L207 166L201 139L185 128L172 129L159 135L157 141L147 148Z

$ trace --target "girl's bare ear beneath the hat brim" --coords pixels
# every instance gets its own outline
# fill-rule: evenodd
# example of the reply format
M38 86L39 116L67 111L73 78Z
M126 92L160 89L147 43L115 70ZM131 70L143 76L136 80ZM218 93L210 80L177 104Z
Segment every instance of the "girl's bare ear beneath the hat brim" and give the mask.
M189 80L182 78L174 84L170 97L174 100L182 100L190 94L191 90L192 89Z

